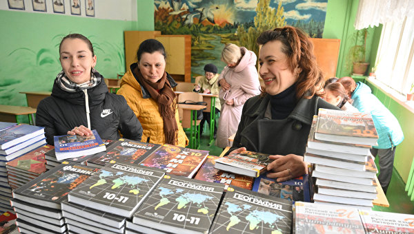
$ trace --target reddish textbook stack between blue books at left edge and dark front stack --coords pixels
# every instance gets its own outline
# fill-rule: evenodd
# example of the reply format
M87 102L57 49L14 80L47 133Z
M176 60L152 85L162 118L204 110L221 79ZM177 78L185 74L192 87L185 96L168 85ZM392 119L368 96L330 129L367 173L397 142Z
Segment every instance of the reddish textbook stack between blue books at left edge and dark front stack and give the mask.
M8 180L12 189L21 187L45 172L45 153L53 148L52 145L43 145L43 147L34 149L19 158L14 158L14 160L7 162Z

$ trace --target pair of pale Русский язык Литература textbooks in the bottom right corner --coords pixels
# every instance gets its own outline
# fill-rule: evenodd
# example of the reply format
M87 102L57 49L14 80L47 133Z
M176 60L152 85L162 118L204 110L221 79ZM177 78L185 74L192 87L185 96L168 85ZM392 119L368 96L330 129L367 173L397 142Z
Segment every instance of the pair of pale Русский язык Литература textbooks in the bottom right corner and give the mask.
M414 233L414 215L296 202L293 233Z

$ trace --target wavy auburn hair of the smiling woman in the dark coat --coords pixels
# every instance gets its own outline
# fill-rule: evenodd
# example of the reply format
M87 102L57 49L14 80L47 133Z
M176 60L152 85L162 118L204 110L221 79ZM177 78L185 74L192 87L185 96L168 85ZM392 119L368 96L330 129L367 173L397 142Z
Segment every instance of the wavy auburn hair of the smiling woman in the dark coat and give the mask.
M318 94L318 86L324 86L322 70L317 66L315 54L313 54L313 43L309 36L299 28L285 26L262 32L257 38L257 44L264 45L269 41L282 42L282 52L288 57L290 71L294 72L296 67L302 69L298 74L296 82L296 98L310 99ZM262 87L262 95L266 89Z

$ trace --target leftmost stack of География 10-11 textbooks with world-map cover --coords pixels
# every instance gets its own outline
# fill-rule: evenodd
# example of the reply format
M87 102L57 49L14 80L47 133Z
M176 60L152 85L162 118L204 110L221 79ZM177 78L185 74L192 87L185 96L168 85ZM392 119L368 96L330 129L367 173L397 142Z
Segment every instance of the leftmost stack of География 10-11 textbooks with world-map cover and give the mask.
M63 217L75 233L124 233L130 219L164 176L157 168L107 164L68 194Z

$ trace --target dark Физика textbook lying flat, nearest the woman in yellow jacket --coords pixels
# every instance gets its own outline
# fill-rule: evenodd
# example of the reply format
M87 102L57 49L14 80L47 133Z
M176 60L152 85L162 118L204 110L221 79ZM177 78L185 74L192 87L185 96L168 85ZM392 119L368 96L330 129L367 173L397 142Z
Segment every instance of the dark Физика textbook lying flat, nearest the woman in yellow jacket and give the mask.
M121 138L108 147L106 152L97 153L95 156L91 157L88 160L88 164L97 164L101 167L109 162L139 164L139 162L144 160L144 158L157 150L160 146L161 145Z

